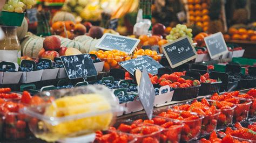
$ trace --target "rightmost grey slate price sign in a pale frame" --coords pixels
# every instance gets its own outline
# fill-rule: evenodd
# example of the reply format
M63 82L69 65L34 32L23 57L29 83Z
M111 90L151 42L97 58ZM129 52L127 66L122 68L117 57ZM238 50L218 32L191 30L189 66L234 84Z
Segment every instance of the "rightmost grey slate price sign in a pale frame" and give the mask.
M228 53L228 48L221 32L207 36L204 40L211 59Z

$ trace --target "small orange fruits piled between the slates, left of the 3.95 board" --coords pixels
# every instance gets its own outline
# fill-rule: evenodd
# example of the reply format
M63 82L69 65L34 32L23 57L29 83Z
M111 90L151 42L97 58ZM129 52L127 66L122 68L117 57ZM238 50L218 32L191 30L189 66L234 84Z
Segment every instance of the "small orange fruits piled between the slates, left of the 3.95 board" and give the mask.
M156 61L161 60L161 55L159 55L157 53L157 51L152 51L151 49L145 49L145 50L144 49L139 49L138 51L134 51L132 59L137 58L138 56L142 56L142 55L151 56L151 58L153 58Z

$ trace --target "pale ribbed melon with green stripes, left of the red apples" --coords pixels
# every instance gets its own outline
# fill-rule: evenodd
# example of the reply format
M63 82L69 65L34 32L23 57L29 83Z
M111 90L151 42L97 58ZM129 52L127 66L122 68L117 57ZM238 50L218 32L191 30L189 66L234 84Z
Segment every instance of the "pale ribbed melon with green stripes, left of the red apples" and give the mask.
M38 53L43 47L44 38L36 35L26 37L21 42L22 55L31 58L38 58Z

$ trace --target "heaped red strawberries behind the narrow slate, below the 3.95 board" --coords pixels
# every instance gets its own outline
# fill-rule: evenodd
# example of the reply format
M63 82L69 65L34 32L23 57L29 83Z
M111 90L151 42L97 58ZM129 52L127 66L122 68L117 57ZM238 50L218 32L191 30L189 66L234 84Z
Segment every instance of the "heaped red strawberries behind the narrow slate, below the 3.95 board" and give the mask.
M150 80L152 84L159 84L160 86L169 85L171 88L189 88L200 85L198 80L185 80L181 76L185 76L185 71L164 74L160 78L157 75L150 75Z

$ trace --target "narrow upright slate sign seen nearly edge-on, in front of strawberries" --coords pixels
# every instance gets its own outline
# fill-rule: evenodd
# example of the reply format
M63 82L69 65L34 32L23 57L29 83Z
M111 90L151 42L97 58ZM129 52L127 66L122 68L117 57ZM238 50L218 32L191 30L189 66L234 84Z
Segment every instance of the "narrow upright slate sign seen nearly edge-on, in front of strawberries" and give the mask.
M139 100L143 105L143 108L149 119L152 118L154 98L156 93L154 92L153 84L150 81L150 77L147 74L146 68L143 68L142 78L140 78L140 83L138 85L138 95Z

